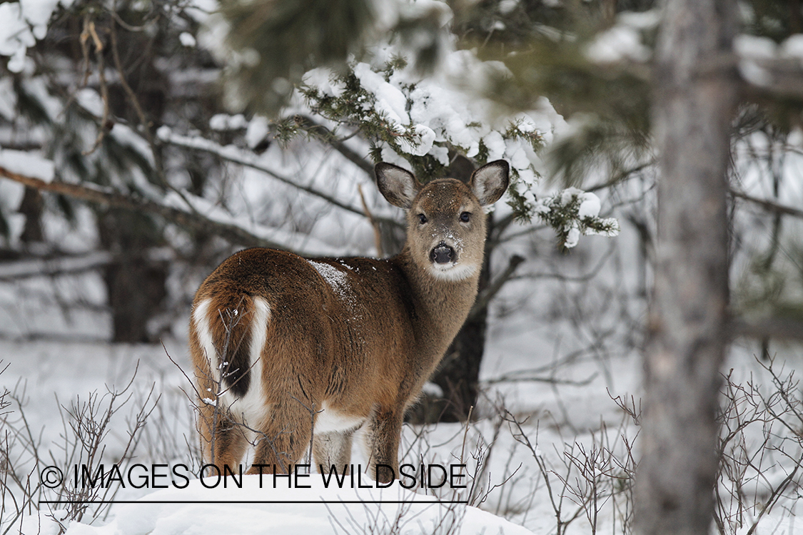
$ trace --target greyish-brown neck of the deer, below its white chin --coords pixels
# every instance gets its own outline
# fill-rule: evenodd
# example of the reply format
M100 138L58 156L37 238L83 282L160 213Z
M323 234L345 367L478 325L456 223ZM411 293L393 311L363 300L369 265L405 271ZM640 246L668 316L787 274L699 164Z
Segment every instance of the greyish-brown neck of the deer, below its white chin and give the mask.
M414 261L407 247L393 261L410 283L419 339L446 351L474 305L479 270L459 281L435 278L428 268L422 268Z

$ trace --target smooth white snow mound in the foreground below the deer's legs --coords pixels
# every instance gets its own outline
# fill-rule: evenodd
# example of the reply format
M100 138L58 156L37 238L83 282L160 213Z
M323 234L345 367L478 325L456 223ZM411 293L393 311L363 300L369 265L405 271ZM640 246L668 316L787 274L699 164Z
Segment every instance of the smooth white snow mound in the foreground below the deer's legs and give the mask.
M280 481L283 479L286 478ZM257 475L243 476L243 488L237 488L233 480L228 481L226 488L216 480L208 485L218 484L218 488L205 488L199 480L191 480L187 488L160 490L135 504L120 506L108 525L73 523L67 535L234 535L262 533L266 526L270 526L271 533L335 535L383 533L397 522L398 531L394 533L429 535L438 533L438 525L444 520L459 526L449 532L455 535L532 534L520 525L474 507L432 503L433 496L414 494L397 484L377 490L351 488L347 481L344 488L333 488L333 483L325 488L318 474L300 479L301 484L311 488L282 488L283 481L282 486L273 488L271 477L264 476L260 484ZM303 501L312 503L292 503Z

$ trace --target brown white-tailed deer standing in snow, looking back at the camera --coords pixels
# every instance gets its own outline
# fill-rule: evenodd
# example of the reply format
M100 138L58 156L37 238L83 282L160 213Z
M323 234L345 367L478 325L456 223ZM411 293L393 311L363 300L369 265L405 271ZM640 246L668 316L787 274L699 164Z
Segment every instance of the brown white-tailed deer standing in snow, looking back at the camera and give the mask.
M405 412L475 302L485 208L507 189L509 165L424 185L393 164L374 173L382 196L406 210L401 253L244 249L198 288L190 355L206 463L238 466L254 444L250 473L289 473L308 448L316 465L345 472L362 428L369 476L397 478Z

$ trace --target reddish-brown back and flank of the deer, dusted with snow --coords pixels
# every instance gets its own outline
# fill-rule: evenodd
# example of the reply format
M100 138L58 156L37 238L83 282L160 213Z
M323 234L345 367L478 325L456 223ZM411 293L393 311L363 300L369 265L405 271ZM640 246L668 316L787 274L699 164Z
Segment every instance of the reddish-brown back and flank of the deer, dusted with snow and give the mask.
M414 299L393 261L308 260L246 249L210 274L194 307L206 314L218 347L228 335L230 355L236 356L235 349L243 354L236 363L235 394L246 395L255 383L253 355L247 355L255 339L263 347L258 372L269 401L279 400L287 381L300 380L316 403L328 400L342 411L362 413L370 407L358 407L361 400L393 403L406 395L400 389L413 387L406 383L418 383L418 377L406 377L417 358ZM267 314L260 313L266 308ZM236 325L226 326L226 318ZM195 338L197 330L193 325ZM248 375L247 385L239 375ZM371 394L360 395L366 390Z

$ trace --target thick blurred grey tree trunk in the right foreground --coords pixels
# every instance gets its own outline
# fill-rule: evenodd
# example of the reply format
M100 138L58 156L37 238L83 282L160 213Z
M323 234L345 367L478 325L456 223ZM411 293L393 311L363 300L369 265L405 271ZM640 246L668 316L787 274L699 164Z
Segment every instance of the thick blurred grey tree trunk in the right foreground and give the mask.
M654 294L645 355L638 533L707 535L728 306L731 0L667 2L656 51L660 151Z

